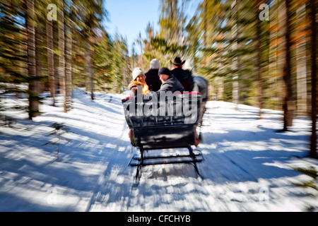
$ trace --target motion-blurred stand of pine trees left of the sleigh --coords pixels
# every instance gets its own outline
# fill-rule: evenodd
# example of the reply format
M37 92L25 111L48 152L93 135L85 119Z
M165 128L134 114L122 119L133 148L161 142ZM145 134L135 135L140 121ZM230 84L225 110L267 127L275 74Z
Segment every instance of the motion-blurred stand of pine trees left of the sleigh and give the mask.
M0 88L28 84L29 119L39 112L39 94L48 90L52 105L64 97L71 109L71 88L121 91L127 74L126 40L105 30L103 0L4 0L0 3ZM117 85L108 85L108 84Z

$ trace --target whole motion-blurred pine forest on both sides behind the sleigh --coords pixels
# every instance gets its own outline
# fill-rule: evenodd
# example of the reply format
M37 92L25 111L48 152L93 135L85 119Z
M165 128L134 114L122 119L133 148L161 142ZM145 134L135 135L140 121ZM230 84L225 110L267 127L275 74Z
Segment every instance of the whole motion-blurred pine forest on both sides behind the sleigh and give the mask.
M317 0L158 1L159 29L148 23L146 37L129 47L102 23L107 1L1 0L1 93L26 95L32 119L40 93L49 92L53 106L62 95L67 112L72 87L92 99L121 93L135 66L147 71L157 58L172 69L182 57L209 81L210 100L283 110L284 131L296 115L311 115L317 141Z

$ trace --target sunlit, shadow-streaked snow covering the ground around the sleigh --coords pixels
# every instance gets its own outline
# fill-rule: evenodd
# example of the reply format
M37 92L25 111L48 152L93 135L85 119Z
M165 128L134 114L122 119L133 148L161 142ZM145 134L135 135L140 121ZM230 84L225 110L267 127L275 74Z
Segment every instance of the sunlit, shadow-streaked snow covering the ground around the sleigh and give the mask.
M45 96L45 95L44 95ZM205 161L201 177L188 164L129 166L132 148L122 95L73 93L73 109L64 113L45 98L40 117L29 121L18 109L16 121L0 126L0 211L307 211L317 210L317 191L294 186L310 177L295 167L318 167L307 157L310 119L295 119L282 129L282 112L210 101L197 147ZM5 105L26 105L10 96ZM57 141L52 124L69 132ZM153 150L182 153L184 150Z

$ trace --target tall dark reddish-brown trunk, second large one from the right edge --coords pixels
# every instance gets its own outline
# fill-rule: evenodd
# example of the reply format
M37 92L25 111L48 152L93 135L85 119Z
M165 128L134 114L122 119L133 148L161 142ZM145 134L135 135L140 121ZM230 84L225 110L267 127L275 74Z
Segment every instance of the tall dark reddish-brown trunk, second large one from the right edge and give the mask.
M285 0L285 61L283 66L283 131L288 130L288 126L293 126L293 87L291 81L291 64L290 64L290 0Z

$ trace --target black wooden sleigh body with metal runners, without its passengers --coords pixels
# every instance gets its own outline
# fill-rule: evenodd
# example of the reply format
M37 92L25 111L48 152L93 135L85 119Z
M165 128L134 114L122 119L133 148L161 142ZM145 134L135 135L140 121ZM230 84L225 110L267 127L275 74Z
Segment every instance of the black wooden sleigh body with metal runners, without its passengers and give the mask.
M129 162L137 167L136 179L141 168L147 165L189 163L199 174L197 162L204 160L202 153L194 151L196 125L201 117L199 93L152 93L136 95L122 100L126 122L134 131L134 143L140 155ZM150 155L148 150L187 148L182 155Z

